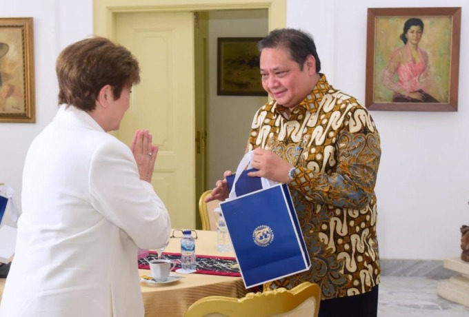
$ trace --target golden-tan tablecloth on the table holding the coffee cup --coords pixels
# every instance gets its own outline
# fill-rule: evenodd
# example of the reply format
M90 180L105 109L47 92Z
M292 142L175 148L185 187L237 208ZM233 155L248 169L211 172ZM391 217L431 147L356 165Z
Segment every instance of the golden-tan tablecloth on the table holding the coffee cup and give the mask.
M233 252L217 252L215 242L217 232L197 230L195 253L209 256L234 256ZM181 252L181 239L171 238L166 252ZM150 275L150 270L139 269L140 275ZM241 298L248 292L240 277L217 276L206 274L177 274L183 276L170 284L141 284L141 293L145 305L145 316L183 316L192 303L200 298L212 295ZM5 286L5 278L0 278L0 298Z

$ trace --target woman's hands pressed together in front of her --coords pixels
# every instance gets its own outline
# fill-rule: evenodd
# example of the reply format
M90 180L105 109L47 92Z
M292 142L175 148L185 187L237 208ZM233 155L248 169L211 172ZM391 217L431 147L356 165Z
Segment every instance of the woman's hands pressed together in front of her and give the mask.
M152 144L152 135L148 130L137 130L130 147L139 167L140 179L150 183L157 159L158 146Z

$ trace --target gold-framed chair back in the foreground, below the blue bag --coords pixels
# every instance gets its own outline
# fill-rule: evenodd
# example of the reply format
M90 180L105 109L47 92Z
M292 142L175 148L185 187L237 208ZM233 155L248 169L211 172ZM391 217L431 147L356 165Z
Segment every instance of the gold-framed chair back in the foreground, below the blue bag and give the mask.
M208 296L192 304L184 317L317 317L321 300L319 285L303 282L293 289L248 293L243 298Z

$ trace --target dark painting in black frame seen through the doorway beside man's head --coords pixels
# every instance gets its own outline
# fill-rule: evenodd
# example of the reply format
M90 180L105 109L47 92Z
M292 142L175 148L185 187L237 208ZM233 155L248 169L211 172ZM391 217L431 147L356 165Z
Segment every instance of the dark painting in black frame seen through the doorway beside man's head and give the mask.
M267 96L262 88L257 37L219 37L217 94Z

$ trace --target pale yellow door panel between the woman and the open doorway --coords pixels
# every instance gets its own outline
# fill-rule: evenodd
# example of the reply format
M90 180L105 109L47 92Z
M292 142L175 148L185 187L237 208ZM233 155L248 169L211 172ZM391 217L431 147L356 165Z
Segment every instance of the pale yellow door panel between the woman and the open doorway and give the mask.
M159 145L152 185L172 227L195 228L192 13L121 13L115 25L117 43L132 51L141 69L116 135L130 145L135 130L150 130Z

